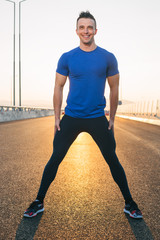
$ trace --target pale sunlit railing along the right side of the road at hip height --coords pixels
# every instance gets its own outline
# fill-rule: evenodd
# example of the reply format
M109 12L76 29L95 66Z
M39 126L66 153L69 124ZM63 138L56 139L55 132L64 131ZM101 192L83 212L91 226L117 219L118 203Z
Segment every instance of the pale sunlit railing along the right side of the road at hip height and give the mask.
M118 106L118 114L160 119L160 100L141 101Z

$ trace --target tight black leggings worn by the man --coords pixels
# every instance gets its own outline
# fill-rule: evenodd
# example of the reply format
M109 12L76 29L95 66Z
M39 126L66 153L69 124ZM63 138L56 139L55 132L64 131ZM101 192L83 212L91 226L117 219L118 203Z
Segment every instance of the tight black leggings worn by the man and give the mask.
M54 180L58 166L64 159L69 147L81 132L89 133L100 148L108 163L113 179L118 184L126 202L132 200L125 172L115 153L116 143L112 130L108 130L108 120L105 116L97 118L73 118L64 115L60 121L60 131L57 131L53 141L53 153L45 166L37 199L43 201L46 192Z

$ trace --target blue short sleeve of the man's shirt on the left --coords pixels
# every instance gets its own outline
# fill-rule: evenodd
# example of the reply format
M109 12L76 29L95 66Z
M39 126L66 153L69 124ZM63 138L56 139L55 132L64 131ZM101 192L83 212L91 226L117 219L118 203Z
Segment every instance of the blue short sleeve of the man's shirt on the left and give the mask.
M60 73L64 76L68 76L69 74L69 70L68 70L68 61L67 61L67 54L64 53L57 64L57 69L56 69L57 73Z

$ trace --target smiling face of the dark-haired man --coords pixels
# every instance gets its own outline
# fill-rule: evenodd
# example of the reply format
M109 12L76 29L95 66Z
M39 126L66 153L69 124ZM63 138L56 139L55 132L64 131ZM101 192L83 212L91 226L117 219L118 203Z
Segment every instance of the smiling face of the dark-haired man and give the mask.
M90 18L80 18L78 20L76 33L83 44L91 45L94 42L94 35L97 33L94 20Z

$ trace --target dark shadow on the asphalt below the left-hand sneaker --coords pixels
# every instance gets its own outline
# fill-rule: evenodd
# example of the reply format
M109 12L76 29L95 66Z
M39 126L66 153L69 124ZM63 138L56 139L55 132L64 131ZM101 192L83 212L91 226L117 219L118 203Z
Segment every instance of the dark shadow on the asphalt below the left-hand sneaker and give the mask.
M32 240L38 229L42 213L39 213L35 218L22 218L21 223L18 226L15 240Z

